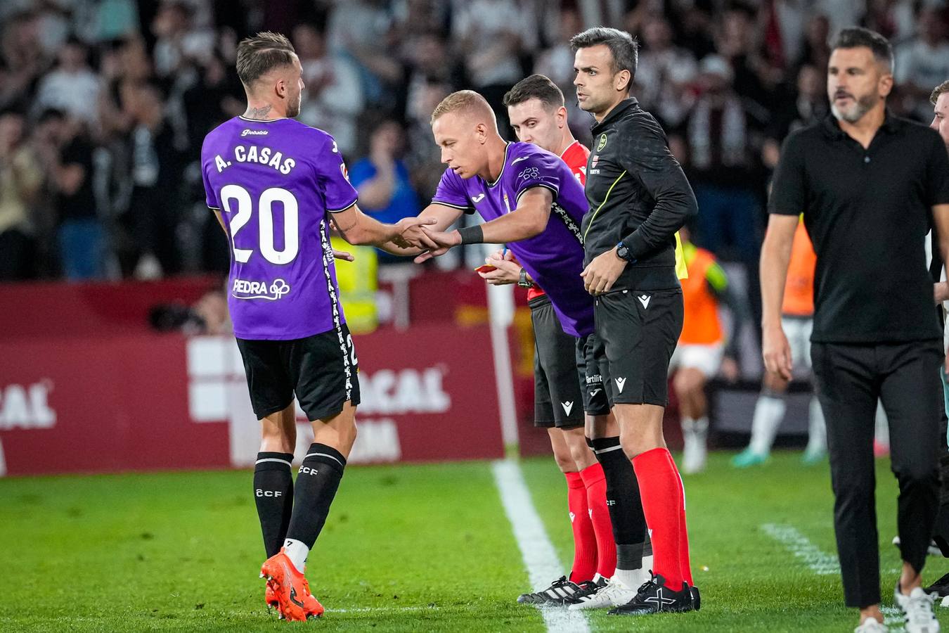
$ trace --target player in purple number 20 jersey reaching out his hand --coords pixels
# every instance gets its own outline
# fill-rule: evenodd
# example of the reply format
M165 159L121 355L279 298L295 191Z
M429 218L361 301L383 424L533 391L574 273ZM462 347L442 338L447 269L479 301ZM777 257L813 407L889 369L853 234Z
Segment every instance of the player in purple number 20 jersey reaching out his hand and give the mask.
M304 88L288 39L263 32L237 48L243 116L204 140L208 206L232 246L228 305L262 441L254 499L268 559L268 606L287 620L323 613L304 576L356 439L359 365L336 284L330 222L350 244L419 244L406 218L381 224L356 205L343 157L326 132L294 121ZM294 396L313 443L294 490ZM282 546L282 547L281 547Z

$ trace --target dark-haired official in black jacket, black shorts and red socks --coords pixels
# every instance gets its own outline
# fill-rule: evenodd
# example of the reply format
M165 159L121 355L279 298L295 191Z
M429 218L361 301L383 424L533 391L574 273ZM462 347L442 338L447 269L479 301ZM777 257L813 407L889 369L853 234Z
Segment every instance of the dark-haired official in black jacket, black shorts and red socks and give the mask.
M610 613L689 611L700 599L689 569L682 480L662 438L662 414L682 330L676 232L697 213L696 197L660 124L629 97L636 41L599 27L574 35L570 46L577 101L596 120L586 163L590 210L581 227L585 286L597 297L586 369L600 368L653 543L652 580Z

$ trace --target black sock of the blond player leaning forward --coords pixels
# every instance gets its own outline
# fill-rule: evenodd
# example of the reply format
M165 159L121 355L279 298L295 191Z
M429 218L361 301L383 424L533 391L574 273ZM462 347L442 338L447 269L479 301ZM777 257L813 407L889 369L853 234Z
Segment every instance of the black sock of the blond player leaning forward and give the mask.
M642 513L640 486L633 464L620 446L620 438L590 440L593 453L603 466L606 478L606 507L613 523L616 563L620 569L642 567L642 556L652 554L652 544Z

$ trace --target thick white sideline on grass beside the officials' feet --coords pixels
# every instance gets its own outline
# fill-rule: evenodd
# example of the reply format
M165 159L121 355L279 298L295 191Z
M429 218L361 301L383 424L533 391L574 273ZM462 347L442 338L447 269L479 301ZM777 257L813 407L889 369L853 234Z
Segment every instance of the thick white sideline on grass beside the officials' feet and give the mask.
M557 552L550 543L544 524L530 500L530 492L524 483L524 475L516 462L505 459L495 461L492 467L494 483L501 493L501 504L511 521L514 539L528 569L530 586L542 587L563 575ZM547 630L589 633L583 611L569 611L565 607L537 607L544 616Z

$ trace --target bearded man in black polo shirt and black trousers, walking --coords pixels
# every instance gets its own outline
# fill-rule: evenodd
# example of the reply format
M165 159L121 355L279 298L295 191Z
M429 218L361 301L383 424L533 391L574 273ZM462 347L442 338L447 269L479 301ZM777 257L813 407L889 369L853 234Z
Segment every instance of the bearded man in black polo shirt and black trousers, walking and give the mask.
M857 631L886 630L874 500L880 398L900 484L895 599L907 630L934 633L920 571L939 507L944 350L924 242L935 225L943 258L949 251L949 158L936 132L886 110L892 66L883 36L841 31L828 65L832 116L785 142L761 251L763 353L768 371L791 378L781 300L803 213L817 252L810 354L828 426L845 600L861 610Z

